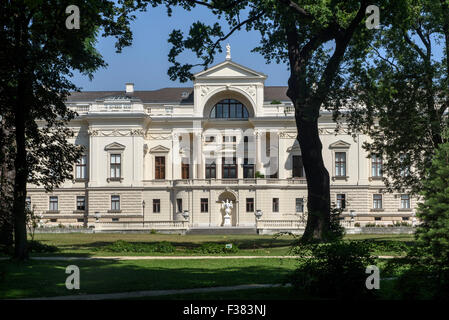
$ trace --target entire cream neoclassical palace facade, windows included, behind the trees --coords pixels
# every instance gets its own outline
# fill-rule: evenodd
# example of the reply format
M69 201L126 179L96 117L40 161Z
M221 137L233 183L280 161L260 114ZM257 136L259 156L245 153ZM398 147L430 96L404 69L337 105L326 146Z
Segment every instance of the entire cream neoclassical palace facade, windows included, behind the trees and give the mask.
M29 186L29 205L48 224L100 230L304 225L307 183L286 87L230 59L195 75L193 87L73 93L73 143L85 153L72 181L53 193ZM416 200L385 193L382 159L367 137L319 127L331 201L346 224L412 222ZM258 216L256 216L256 213ZM261 216L260 216L261 214Z

